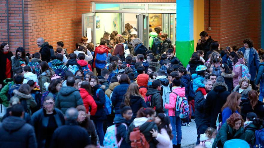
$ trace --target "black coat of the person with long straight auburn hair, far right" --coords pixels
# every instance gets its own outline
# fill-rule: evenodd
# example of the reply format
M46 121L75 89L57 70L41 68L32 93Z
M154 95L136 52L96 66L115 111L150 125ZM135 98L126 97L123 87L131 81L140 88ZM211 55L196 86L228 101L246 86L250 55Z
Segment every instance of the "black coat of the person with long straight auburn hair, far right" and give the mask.
M244 120L246 120L248 112L254 112L259 118L263 119L264 118L264 103L258 100L254 109L252 109L252 106L250 105L249 101L246 103L243 103L242 108L241 108L241 115Z

